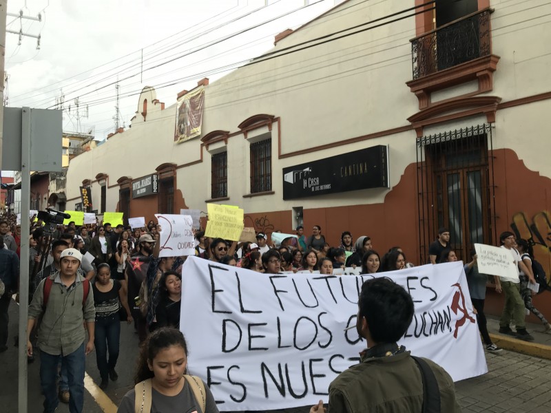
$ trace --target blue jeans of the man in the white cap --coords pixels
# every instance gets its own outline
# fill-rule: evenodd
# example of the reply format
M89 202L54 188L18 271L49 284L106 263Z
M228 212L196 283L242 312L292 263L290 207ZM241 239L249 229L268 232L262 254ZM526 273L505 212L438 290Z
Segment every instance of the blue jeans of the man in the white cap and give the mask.
M40 383L44 393L44 412L52 413L59 403L57 399L57 366L61 359L61 366L67 370L69 381L69 412L82 413L84 405L84 370L85 353L84 343L71 354L48 354L40 351Z

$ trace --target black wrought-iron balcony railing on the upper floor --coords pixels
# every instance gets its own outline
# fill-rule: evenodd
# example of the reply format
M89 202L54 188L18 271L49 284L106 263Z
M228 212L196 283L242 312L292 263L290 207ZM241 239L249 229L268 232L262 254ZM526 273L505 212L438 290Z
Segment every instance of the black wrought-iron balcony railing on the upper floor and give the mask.
M480 10L411 40L413 79L489 56L491 12Z

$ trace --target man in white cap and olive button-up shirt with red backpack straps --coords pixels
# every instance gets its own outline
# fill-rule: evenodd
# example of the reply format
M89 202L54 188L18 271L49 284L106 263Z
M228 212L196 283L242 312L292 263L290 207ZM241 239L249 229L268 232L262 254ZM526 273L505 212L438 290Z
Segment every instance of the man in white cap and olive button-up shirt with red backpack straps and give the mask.
M40 348L40 381L45 397L43 406L46 413L54 412L59 403L56 381L60 359L68 373L69 411L70 413L83 411L85 355L94 350L96 308L90 282L79 275L81 261L82 254L76 249L63 250L59 271L40 282L29 306L28 356L33 354L30 331L42 315L37 343ZM45 282L48 279L52 284L48 295L45 296ZM88 331L87 340L83 328L84 322Z

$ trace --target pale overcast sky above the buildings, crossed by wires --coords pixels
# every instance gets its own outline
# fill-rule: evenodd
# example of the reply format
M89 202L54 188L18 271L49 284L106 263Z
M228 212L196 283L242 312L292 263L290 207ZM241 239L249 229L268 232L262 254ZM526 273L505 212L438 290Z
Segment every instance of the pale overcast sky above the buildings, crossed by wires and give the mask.
M19 36L6 34L8 106L53 108L63 95L64 108L71 109L63 114L63 131L92 130L103 140L114 131L117 79L121 126L128 127L144 86L155 87L157 98L171 105L181 90L203 77L220 78L227 74L220 68L266 52L275 34L341 1L270 0L264 7L264 0L10 0L8 13L40 13L42 21L22 21L23 32L40 34L39 50L37 39L23 36L18 45ZM7 28L19 32L21 20L8 16Z

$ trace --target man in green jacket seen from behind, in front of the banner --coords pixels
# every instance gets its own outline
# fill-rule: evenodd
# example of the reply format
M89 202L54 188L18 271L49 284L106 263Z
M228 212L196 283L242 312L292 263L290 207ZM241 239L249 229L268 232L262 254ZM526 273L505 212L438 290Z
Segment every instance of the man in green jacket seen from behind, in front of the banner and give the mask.
M423 411L427 394L421 370L410 352L397 344L408 329L413 312L410 295L391 279L382 277L364 282L356 328L368 348L360 354L359 364L339 374L329 385L331 413ZM440 411L461 412L450 375L433 361L422 360L435 376ZM311 413L325 411L322 401L310 409Z

